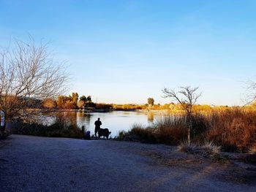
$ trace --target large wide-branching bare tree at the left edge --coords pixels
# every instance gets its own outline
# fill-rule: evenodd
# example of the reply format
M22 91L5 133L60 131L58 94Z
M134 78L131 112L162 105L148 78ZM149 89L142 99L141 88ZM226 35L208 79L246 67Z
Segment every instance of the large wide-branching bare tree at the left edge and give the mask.
M53 63L42 42L15 39L13 50L0 51L0 57L0 110L6 120L33 118L42 101L67 88L64 65Z

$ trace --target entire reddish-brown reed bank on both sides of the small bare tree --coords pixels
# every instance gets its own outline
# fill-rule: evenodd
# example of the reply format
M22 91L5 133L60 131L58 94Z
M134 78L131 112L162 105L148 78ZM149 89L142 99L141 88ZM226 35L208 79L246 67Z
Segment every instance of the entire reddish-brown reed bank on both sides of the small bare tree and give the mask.
M117 139L179 145L187 139L187 128L186 116L167 115L152 127L134 124L129 131L121 131ZM256 152L256 111L234 107L208 115L194 114L191 135L197 145L208 141L224 151Z

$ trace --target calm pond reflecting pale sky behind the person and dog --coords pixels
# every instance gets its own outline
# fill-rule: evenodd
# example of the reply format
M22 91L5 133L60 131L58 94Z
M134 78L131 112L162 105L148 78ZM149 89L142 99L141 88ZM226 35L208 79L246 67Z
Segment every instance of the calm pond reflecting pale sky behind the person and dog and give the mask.
M156 115L154 113L144 112L64 112L65 116L72 120L72 123L77 123L78 126L86 126L91 134L94 134L94 122L97 118L102 121L101 128L108 128L111 131L111 137L118 135L118 131L128 131L133 123L141 123L145 126L152 125Z

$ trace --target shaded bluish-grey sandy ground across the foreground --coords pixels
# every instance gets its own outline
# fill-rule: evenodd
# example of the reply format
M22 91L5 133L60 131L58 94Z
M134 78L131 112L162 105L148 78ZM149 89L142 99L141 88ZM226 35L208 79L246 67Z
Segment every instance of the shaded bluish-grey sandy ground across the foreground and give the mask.
M256 168L135 142L12 135L0 191L256 191Z

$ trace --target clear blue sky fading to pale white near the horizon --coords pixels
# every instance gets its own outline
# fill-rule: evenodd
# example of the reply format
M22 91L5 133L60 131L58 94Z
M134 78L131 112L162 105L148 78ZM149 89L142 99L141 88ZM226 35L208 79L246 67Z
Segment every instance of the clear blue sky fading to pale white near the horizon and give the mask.
M0 0L0 45L50 42L71 91L108 103L199 86L200 104L241 104L256 75L256 1Z

